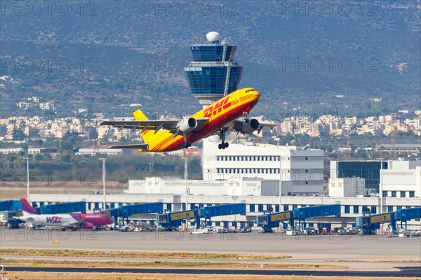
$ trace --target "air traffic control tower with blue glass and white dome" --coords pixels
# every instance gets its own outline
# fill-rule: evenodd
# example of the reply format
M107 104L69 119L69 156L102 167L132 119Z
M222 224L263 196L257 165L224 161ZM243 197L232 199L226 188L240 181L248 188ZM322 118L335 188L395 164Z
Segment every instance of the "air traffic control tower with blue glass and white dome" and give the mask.
M238 90L243 67L234 62L236 45L221 40L218 32L206 34L206 43L192 45L193 61L185 67L190 90L200 104L209 105Z

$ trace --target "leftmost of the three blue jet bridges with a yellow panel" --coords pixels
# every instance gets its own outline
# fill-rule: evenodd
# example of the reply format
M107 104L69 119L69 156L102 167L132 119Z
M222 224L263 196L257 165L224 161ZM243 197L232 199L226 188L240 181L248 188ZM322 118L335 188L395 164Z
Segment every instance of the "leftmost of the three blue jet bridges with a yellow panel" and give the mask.
M163 227L169 228L182 224L182 221L196 219L196 228L200 228L201 218L210 224L210 219L216 216L245 215L246 204L222 204L217 206L200 207L188 211L158 214L156 222Z

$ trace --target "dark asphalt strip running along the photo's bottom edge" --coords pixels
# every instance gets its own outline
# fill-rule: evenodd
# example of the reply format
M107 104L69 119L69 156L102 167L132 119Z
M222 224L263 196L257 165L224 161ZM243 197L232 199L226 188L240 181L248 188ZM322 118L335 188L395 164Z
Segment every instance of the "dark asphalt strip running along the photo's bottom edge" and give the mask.
M403 267L396 272L332 271L332 270L276 270L276 269L185 269L185 268L83 268L83 267L7 267L9 272L102 272L147 274L241 274L241 275L296 275L296 276L353 276L353 277L420 277L420 267Z

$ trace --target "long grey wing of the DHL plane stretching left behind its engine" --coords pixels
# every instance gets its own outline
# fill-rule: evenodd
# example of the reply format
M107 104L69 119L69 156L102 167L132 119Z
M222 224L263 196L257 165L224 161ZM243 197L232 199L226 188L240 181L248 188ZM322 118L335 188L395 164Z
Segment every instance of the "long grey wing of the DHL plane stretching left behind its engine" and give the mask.
M178 131L178 127L185 119L167 119L167 120L105 120L100 125L112 125L120 130L124 128L129 130L168 130L171 133ZM197 128L207 123L209 118L196 118Z

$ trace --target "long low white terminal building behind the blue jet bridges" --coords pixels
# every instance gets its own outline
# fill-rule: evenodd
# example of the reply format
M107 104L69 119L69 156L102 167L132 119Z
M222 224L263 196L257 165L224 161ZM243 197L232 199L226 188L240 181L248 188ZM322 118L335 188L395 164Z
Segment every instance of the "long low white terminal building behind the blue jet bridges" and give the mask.
M184 179L171 181L168 178L150 178L145 179L145 181L130 181L128 190L126 190L125 193L107 195L106 203L107 208L110 209L126 204L163 202L166 211L184 211L194 209L195 207L231 203L246 204L245 216L232 215L213 218L212 225L224 226L226 228L253 226L255 225L256 217L267 211L277 212L293 210L297 207L340 204L340 217L312 218L307 221L307 223L309 227L314 228L345 228L352 227L356 221L356 217L363 216L363 214L366 213L380 214L397 211L398 209L421 206L421 199L418 195L421 189L419 180L421 176L420 162L389 162L389 166L395 166L398 169L384 170L385 173L383 174L383 177L400 176L399 178L395 177L400 183L396 183L396 181L385 183L383 190L387 192L388 195L383 197L365 197L363 195L338 195L333 197L321 194L314 194L314 196L295 194L293 196L283 195L280 200L279 192L276 192L272 186L265 185L265 175L270 176L269 173L261 174L263 175L262 177L255 178L238 176L224 181L187 181L187 185ZM399 174L394 174L396 172ZM389 174L386 175L387 173ZM345 184L342 187L349 188L350 186ZM408 195L401 196L400 192L403 190L405 190ZM399 195L394 197L392 192L396 192L396 194ZM414 196L409 195L410 192L414 192ZM44 203L85 201L87 204L86 209L93 211L94 209L102 208L103 197L102 195L34 194L31 195L31 200L33 202ZM279 209L280 203L281 209ZM382 205L382 210L380 210L380 205ZM133 218L154 221L156 216L149 214ZM418 219L410 221L408 225L410 227L420 227L421 223Z

